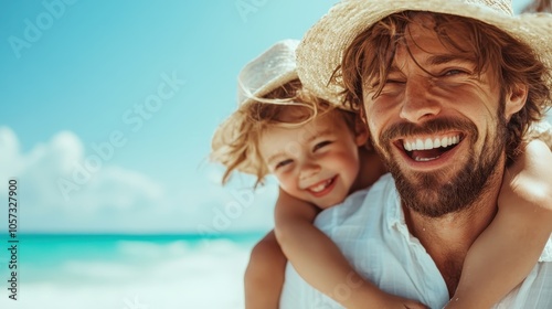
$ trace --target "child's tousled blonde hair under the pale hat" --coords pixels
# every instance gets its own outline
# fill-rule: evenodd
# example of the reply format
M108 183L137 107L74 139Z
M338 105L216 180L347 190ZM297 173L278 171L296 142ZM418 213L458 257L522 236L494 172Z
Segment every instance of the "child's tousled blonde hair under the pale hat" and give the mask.
M290 108L298 117L289 119L283 116ZM314 96L302 88L299 79L286 83L264 97L241 106L219 127L212 141L211 159L226 168L223 184L234 170L255 175L255 187L263 183L269 173L258 150L263 131L270 127L302 126L327 113L336 113L336 117L342 117L354 132L357 113L340 109L336 104Z

